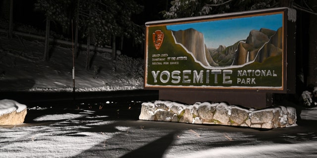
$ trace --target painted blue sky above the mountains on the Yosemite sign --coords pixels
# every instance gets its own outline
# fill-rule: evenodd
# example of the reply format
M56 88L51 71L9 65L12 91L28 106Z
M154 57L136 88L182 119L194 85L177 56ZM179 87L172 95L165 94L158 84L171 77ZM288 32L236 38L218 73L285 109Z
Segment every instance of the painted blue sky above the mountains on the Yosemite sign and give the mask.
M230 46L238 40L246 40L251 30L266 28L276 31L283 25L283 14L261 15L207 22L167 25L168 30L193 28L204 34L207 47Z

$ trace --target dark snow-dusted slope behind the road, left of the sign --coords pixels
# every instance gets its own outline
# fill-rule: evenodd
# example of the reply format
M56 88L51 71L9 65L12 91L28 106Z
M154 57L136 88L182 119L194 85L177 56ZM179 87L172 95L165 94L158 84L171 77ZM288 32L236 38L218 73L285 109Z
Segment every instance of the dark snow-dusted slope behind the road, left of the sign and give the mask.
M50 60L43 61L44 42L0 34L0 91L72 91L71 46L51 43ZM132 52L131 52L132 53ZM108 52L92 52L87 71L86 51L75 57L76 91L109 91L143 88L143 59L125 55L111 59Z

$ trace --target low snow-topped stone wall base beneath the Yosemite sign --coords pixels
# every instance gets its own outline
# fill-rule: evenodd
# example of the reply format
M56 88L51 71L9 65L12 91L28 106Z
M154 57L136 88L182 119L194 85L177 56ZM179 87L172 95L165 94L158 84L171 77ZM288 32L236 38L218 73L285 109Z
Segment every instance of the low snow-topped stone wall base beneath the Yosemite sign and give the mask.
M139 119L193 124L221 124L252 128L278 128L296 123L296 110L276 106L261 110L247 109L226 103L183 105L170 101L142 104Z

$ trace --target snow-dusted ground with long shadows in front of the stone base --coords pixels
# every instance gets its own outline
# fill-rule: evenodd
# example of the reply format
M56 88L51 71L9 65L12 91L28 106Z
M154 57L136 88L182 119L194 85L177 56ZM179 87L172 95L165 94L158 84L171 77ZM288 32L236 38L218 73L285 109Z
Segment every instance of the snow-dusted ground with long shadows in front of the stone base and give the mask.
M137 120L140 114L137 107L28 109L25 123L0 126L0 157L317 157L317 108L303 110L302 120L296 126L260 131Z

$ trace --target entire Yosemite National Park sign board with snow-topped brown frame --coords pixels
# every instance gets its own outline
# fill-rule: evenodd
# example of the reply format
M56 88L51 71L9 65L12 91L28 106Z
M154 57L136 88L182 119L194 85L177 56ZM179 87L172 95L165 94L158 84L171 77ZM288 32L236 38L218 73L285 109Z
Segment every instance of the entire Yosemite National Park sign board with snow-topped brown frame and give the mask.
M295 21L273 8L147 22L144 87L292 92Z

